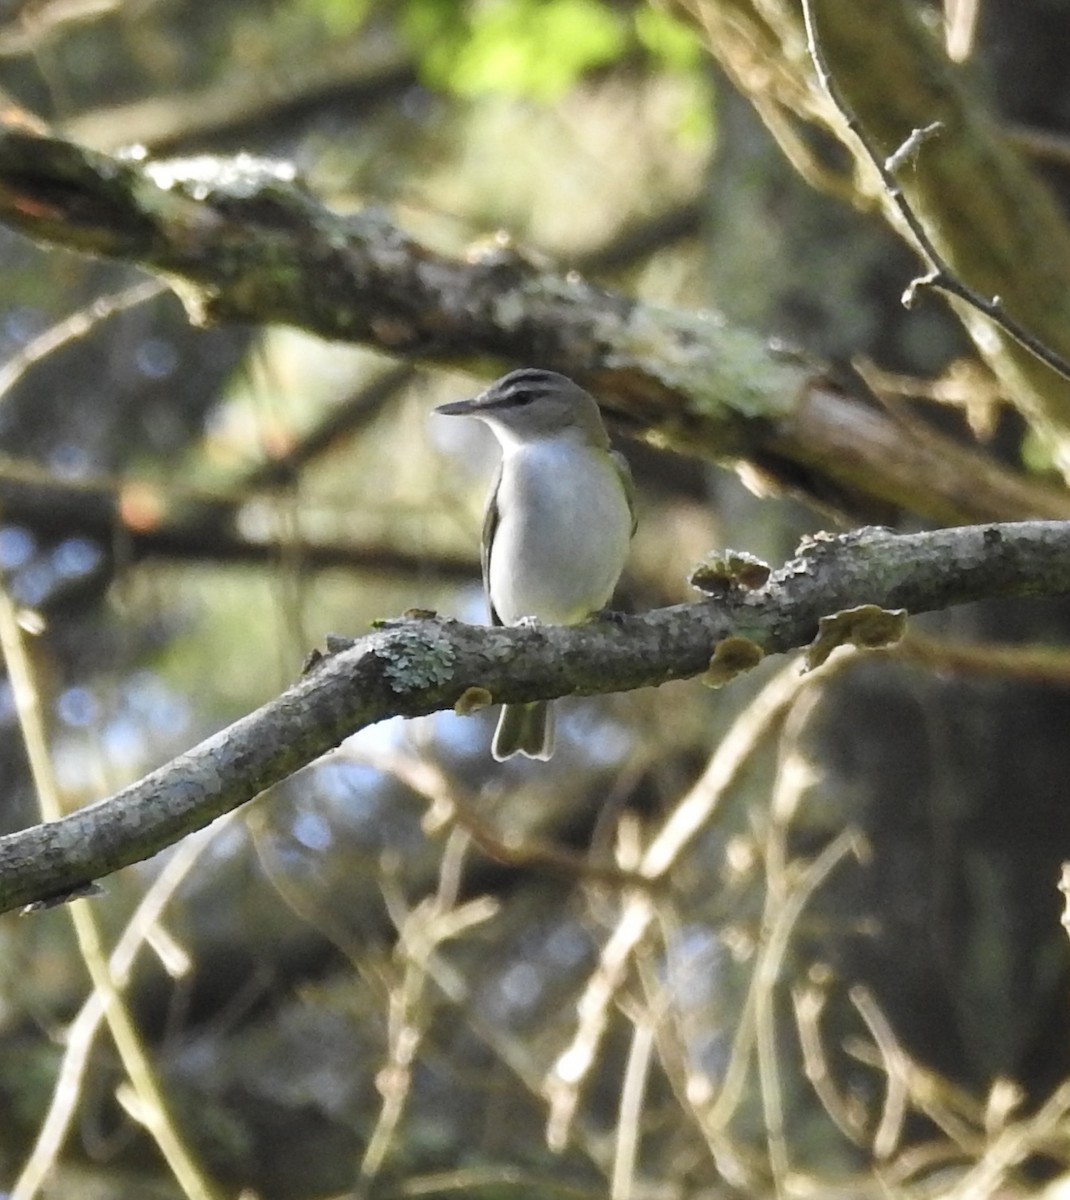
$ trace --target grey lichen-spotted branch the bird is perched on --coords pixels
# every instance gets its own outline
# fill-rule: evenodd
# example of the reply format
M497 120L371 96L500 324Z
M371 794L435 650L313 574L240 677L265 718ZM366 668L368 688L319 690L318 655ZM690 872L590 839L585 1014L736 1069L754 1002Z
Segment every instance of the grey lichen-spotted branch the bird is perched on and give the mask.
M708 566L705 600L619 623L492 629L433 616L389 623L109 799L0 838L0 912L62 896L157 853L390 716L627 691L707 673L714 680L725 677L726 658L747 666L806 646L823 617L861 605L925 612L1070 592L1070 522L909 535L867 528L806 542L761 587L743 580L756 582L746 564L738 578L731 564ZM733 654L715 656L726 644Z

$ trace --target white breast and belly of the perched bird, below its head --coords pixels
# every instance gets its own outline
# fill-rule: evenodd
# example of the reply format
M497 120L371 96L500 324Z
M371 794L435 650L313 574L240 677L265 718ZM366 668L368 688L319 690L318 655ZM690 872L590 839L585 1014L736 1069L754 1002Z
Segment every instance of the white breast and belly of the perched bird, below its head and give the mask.
M571 625L603 608L624 569L631 512L609 455L546 439L505 452L491 547L501 620Z

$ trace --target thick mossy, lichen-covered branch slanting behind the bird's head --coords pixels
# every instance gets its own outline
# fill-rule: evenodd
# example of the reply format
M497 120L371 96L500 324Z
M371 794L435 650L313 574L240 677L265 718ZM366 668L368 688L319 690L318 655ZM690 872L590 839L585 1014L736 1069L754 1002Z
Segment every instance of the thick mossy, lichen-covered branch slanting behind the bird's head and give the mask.
M944 524L1070 517L1064 491L920 422L907 428L757 334L638 304L497 241L464 258L438 253L379 215L332 212L285 163L136 161L0 130L0 221L140 264L202 323L283 323L411 360L553 367L638 437L750 460L848 512L906 509Z

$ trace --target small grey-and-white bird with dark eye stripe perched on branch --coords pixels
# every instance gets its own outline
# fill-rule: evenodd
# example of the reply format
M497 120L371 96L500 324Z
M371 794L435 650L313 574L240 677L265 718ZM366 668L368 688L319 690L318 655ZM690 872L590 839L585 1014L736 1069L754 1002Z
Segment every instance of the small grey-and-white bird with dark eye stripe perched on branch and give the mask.
M603 608L636 518L631 472L609 449L594 397L554 371L525 367L435 412L477 416L501 445L480 556L492 624L577 625ZM506 704L492 754L546 760L553 740L548 701Z

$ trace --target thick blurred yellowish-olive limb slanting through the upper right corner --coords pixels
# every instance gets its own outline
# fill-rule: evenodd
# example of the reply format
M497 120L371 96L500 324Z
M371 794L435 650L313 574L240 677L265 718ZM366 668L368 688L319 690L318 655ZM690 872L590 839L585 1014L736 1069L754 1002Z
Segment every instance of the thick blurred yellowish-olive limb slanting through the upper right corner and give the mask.
M756 0L677 0L740 91L783 144L799 121L831 132L852 155L855 203L879 196L890 223L912 244L903 212L880 191L870 154L843 114L816 86L802 6ZM1070 355L1070 226L1048 188L1015 152L979 89L948 61L916 5L903 0L819 0L823 56L846 109L878 156L895 154L915 130L943 132L897 175L904 204L942 264L980 296L998 296L1015 328L1062 359ZM810 7L810 6L808 6ZM770 114L776 119L770 120ZM906 283L907 281L904 281ZM1070 382L1032 350L957 300L952 307L999 379L1004 395L1041 432L1070 430Z

